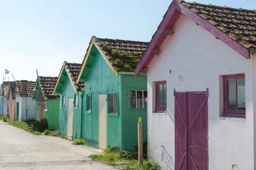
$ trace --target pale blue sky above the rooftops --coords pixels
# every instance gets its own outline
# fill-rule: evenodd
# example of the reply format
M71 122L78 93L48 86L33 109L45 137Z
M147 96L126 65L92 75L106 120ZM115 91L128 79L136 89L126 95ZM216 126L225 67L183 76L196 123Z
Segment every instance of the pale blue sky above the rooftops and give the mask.
M191 2L191 1L187 1ZM197 3L256 9L255 0ZM150 41L171 0L0 0L0 76L58 76L63 61L82 63L92 35ZM13 80L8 74L9 80ZM6 79L7 79L6 76ZM2 82L2 77L0 77Z

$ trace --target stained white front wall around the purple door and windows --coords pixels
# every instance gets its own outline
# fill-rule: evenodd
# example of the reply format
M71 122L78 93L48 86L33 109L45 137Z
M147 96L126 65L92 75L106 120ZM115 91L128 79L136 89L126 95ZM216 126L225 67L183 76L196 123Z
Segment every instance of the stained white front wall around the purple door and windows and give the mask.
M253 96L256 97L253 63L255 69L256 62L245 59L184 15L180 16L173 29L175 34L166 38L160 47L161 54L148 65L149 159L157 161L163 169L174 170L173 89L187 92L209 88L209 170L231 170L234 164L235 170L253 170L253 110L256 108L256 100L253 101ZM237 73L245 73L246 118L221 117L221 75ZM154 82L162 80L167 81L166 114L154 113Z

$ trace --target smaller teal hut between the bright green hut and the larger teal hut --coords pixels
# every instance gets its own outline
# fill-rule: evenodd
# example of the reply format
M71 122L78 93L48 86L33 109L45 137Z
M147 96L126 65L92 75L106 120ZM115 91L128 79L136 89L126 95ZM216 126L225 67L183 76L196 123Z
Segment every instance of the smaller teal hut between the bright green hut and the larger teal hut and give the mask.
M59 133L70 140L81 137L84 82L76 83L81 65L64 61L53 90L53 94L60 94Z

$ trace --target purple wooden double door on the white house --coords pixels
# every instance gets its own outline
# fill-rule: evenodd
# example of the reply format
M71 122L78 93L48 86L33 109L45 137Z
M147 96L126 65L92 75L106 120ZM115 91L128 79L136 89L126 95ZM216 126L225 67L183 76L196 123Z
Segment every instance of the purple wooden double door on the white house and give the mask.
M175 170L208 170L208 93L174 95Z

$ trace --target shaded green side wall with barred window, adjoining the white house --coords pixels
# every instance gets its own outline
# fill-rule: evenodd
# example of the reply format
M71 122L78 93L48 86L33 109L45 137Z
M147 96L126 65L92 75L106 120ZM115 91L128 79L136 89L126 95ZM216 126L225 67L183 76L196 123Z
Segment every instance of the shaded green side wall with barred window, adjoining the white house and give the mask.
M122 75L122 148L135 151L138 144L138 117L142 118L143 142L147 141L147 109L130 107L131 90L147 91L147 76Z

